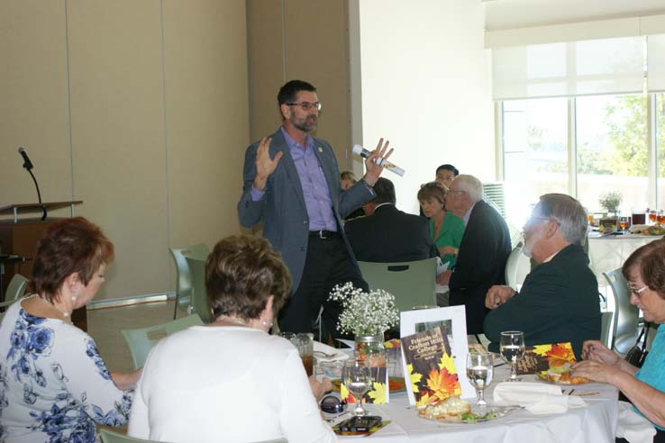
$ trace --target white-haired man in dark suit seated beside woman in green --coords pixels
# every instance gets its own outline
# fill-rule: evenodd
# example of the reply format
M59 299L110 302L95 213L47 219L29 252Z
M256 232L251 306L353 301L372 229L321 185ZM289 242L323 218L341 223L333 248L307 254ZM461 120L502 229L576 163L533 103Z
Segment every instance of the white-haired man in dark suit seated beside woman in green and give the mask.
M487 315L487 290L506 283L510 232L501 214L483 200L483 185L475 176L460 175L452 181L446 209L467 227L455 268L437 277L437 282L449 285L451 306L465 306L467 333L479 334Z

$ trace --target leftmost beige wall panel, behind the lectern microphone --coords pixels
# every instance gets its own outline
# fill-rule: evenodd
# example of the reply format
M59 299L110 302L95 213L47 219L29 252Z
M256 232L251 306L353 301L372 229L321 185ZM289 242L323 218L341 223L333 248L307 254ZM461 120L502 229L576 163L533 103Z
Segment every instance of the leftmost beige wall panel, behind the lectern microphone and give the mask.
M19 146L43 201L71 197L65 24L64 1L0 2L0 206L37 202Z

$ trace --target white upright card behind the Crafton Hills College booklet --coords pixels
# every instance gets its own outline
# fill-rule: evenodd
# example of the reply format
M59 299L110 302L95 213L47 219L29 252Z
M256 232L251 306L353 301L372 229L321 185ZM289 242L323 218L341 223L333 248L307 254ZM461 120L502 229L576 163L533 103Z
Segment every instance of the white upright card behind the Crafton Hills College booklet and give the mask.
M445 349L451 357L452 363L447 363L450 360L445 360L444 366L448 366L450 374L451 369L454 367L458 378L458 384L461 391L462 398L476 398L476 390L469 384L469 379L466 375L467 367L467 354L469 353L468 339L467 339L467 321L464 312L464 306L451 306L448 308L433 308L422 309L416 311L400 312L400 337L402 338L402 360L403 371L405 375L407 397L411 405L415 405L414 389L412 380L409 377L409 368L407 367L406 355L407 349L405 348L405 338L413 336L417 332L424 332L432 330L433 328L441 327L442 338L445 337L444 343L447 343ZM437 362L438 370L442 371L441 359ZM426 377L425 377L426 378ZM426 383L426 380L425 380ZM460 393L457 393L458 395Z

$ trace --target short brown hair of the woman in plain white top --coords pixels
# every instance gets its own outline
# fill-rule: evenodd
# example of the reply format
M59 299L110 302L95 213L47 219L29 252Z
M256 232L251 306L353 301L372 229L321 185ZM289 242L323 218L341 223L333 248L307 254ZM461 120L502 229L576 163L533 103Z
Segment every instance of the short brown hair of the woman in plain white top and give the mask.
M219 240L205 261L205 289L214 318L234 315L260 317L273 295L273 314L291 291L287 266L268 240L234 235Z

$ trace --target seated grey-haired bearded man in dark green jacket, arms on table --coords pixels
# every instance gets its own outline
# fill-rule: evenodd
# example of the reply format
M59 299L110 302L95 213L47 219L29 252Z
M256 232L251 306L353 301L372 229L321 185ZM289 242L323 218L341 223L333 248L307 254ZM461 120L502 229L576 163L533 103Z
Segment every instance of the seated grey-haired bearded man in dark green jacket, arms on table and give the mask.
M501 331L522 330L526 346L569 341L579 360L584 340L600 339L598 284L582 249L587 223L569 195L541 196L523 228L524 254L538 266L519 293L503 285L487 291L489 350L498 351Z

